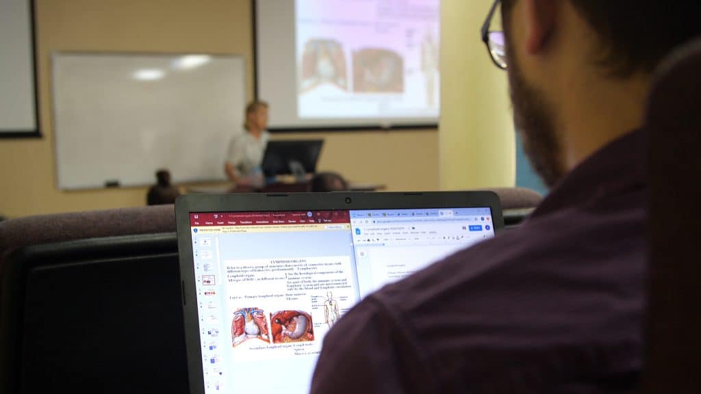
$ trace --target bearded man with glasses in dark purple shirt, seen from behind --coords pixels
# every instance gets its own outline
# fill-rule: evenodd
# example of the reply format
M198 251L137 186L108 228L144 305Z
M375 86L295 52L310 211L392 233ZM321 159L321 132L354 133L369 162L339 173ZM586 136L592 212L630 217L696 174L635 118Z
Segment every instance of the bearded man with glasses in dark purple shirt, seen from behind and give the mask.
M490 28L499 15L504 32ZM681 1L496 1L483 38L552 192L519 229L346 313L312 392L634 390L646 276L639 128L653 69L701 33L694 19Z

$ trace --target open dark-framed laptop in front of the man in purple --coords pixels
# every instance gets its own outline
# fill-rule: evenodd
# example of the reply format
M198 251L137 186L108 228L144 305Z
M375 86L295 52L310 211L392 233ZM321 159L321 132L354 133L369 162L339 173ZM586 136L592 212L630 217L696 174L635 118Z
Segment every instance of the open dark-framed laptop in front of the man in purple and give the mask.
M175 208L190 389L208 394L308 393L325 334L360 299L503 227L486 191L190 194Z

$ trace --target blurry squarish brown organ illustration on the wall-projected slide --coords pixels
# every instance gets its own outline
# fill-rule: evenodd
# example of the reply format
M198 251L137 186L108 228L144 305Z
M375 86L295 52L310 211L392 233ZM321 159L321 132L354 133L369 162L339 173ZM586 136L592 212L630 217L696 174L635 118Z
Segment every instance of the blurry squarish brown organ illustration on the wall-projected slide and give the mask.
M404 59L392 50L367 48L353 53L356 93L404 92Z

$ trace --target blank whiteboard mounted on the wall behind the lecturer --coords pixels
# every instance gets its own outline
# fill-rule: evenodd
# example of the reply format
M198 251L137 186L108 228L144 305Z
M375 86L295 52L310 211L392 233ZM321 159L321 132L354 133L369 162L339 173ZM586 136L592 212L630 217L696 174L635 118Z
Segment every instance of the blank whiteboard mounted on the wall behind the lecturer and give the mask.
M60 189L221 181L242 132L243 57L56 53L53 111Z

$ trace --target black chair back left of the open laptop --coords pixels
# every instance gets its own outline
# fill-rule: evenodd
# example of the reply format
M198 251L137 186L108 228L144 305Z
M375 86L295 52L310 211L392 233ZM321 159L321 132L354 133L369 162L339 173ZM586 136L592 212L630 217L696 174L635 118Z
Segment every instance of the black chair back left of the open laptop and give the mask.
M1 392L188 392L175 233L22 247L2 280Z

